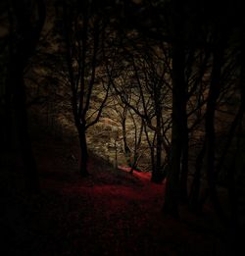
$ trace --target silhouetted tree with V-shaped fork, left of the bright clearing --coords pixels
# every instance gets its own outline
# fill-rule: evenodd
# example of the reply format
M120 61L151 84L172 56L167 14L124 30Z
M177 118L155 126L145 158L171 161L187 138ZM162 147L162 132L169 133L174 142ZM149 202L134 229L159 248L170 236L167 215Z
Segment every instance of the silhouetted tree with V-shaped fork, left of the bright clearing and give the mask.
M66 64L72 91L73 120L80 145L80 175L87 176L88 150L86 130L99 121L105 106L110 79L103 75L102 52L106 47L108 17L99 2L63 2L63 27ZM102 67L102 68L101 68ZM91 97L104 90L97 110L91 110ZM90 116L91 115L91 116Z

